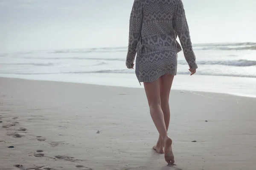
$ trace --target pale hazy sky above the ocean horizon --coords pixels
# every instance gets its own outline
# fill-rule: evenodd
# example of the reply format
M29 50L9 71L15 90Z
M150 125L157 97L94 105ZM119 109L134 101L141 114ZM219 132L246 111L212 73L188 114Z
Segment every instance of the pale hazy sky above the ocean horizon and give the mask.
M134 0L0 0L0 51L128 45ZM192 43L256 42L256 0L183 0Z

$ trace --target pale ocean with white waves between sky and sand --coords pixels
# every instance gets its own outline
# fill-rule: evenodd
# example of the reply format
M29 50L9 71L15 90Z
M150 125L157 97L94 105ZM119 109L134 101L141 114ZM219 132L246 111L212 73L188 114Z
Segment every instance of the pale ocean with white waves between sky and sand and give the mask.
M197 73L189 75L181 51L172 89L256 97L256 43L195 44L193 48ZM0 51L0 77L143 88L135 70L125 66L126 53L127 47Z

